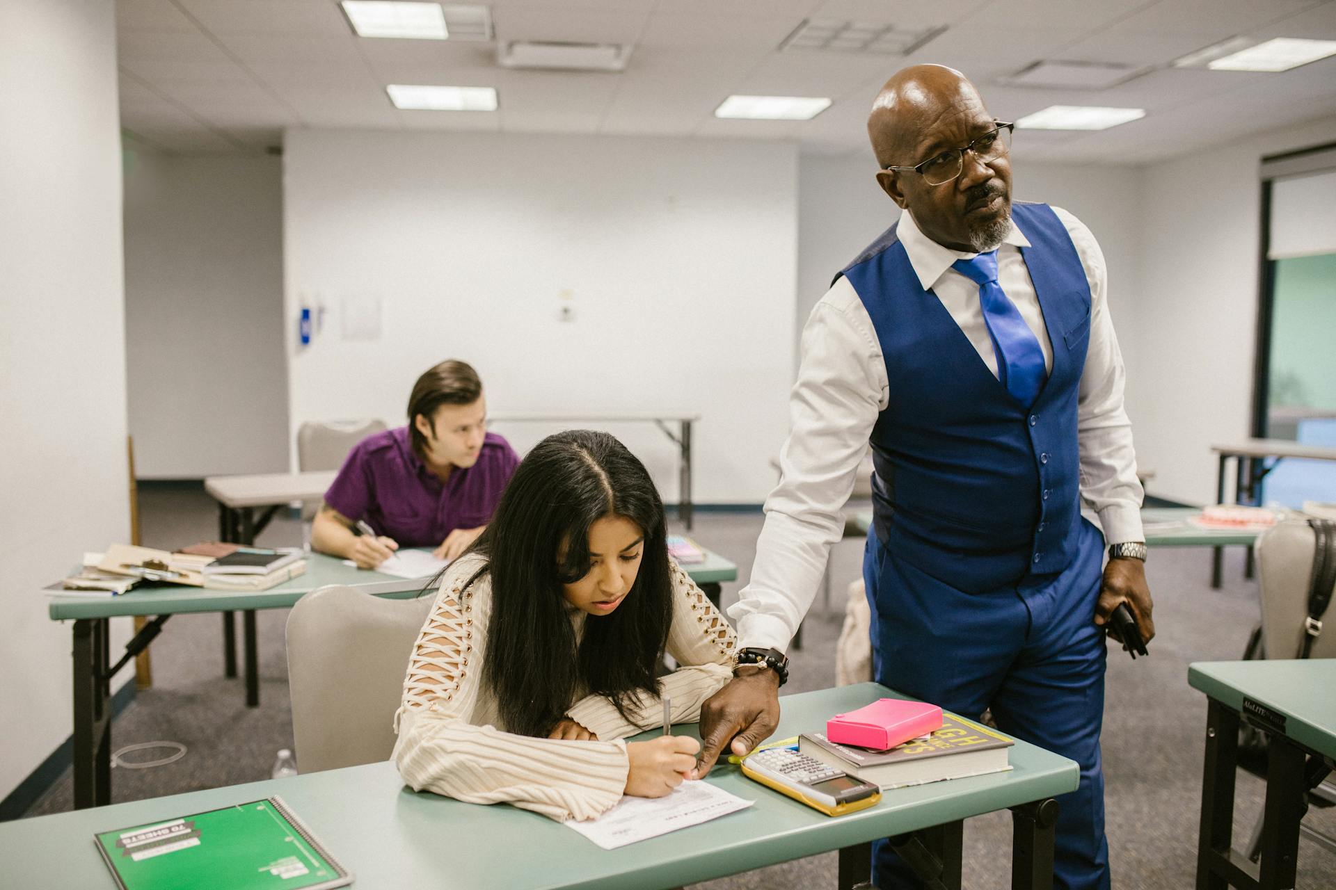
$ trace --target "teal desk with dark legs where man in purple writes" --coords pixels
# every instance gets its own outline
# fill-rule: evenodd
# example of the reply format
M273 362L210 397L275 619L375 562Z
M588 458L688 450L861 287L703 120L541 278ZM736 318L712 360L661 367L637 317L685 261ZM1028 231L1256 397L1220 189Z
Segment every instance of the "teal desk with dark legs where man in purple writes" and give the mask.
M737 566L708 550L704 562L683 568L715 603L719 602L720 584L737 578ZM172 615L235 610L247 616L246 701L254 706L259 703L255 610L289 608L302 595L331 584L347 584L377 596L406 599L415 596L424 583L421 578L394 578L345 566L337 556L311 554L306 558L306 574L258 592L142 584L120 596L52 596L48 607L51 619L73 619L75 806L81 809L111 803L111 678L148 646ZM112 666L107 620L123 615L154 618L126 644L124 655Z

